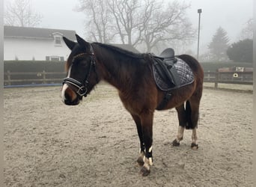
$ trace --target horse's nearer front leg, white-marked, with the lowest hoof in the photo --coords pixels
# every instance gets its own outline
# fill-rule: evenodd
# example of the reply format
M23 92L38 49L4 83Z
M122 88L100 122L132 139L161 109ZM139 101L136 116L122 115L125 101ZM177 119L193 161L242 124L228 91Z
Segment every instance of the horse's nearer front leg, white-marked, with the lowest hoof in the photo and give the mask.
M141 175L150 174L150 166L153 165L152 143L153 143L153 112L147 111L141 114L142 139L145 147L144 164L141 168Z

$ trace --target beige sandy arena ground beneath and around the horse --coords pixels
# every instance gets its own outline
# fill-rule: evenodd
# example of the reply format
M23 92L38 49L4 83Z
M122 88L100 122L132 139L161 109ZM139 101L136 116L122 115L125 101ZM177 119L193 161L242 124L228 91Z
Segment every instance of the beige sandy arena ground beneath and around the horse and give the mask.
M175 109L156 111L153 167L138 175L138 135L115 88L81 105L60 88L4 89L5 186L252 186L252 93L204 89L198 150L180 147Z

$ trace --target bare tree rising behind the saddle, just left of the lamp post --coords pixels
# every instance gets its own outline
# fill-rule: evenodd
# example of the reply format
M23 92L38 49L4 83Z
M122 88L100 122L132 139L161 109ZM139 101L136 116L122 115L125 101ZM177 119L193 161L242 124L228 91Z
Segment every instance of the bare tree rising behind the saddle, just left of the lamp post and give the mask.
M177 1L162 6L150 1L150 15L143 24L144 37L142 40L150 52L158 43L186 42L195 38L196 30L192 28L192 23L186 18L186 9L189 5L179 4ZM162 8L165 7L165 8Z

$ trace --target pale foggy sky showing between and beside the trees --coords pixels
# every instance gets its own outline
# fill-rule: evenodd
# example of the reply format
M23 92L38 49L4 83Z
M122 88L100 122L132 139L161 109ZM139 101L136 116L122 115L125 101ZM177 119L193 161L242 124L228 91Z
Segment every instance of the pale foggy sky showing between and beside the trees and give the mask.
M4 0L13 1L13 0ZM253 17L253 0L184 0L191 4L187 16L194 28L198 28L198 8L201 13L201 50L207 48L216 29L221 26L228 32L230 43L239 40L246 22ZM43 15L40 27L75 30L85 37L85 14L74 8L78 0L31 0L32 7ZM196 50L197 40L191 46Z

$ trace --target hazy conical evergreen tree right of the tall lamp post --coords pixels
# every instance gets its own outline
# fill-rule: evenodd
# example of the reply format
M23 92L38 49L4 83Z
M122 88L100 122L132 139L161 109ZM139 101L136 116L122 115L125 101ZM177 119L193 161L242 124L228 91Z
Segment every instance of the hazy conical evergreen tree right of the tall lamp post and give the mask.
M227 60L227 49L228 49L228 36L227 32L219 27L216 31L216 34L213 35L213 39L208 45L210 49L210 54L213 56L213 60L223 61Z

